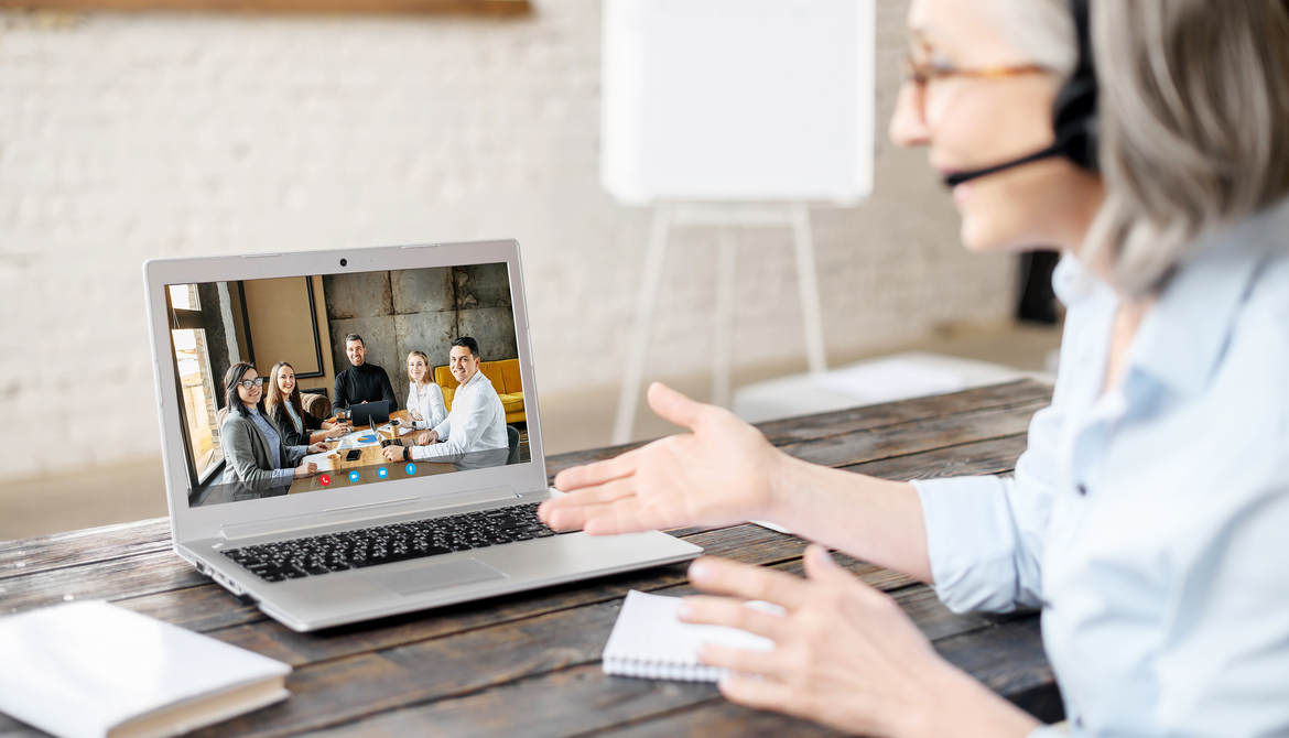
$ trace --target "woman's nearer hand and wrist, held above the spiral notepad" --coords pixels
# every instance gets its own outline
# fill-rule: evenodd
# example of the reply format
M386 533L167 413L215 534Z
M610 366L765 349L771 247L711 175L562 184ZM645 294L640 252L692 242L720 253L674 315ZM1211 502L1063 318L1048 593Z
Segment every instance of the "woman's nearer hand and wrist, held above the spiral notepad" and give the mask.
M690 581L730 596L686 598L682 620L737 627L772 652L704 647L704 663L736 672L730 701L864 735L1023 737L1039 724L940 658L888 595L806 551L806 580L721 559L699 559ZM768 600L775 616L742 605Z

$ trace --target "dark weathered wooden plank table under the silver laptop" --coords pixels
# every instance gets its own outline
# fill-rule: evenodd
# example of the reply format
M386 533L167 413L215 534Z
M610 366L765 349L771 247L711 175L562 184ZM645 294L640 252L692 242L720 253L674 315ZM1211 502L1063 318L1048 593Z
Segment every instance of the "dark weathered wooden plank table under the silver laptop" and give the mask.
M763 424L793 456L889 479L1009 473L1032 381ZM626 447L548 460L552 475ZM800 572L804 542L758 525L673 535L709 554ZM1061 703L1034 616L955 616L924 585L839 556L891 592L945 658L1047 720ZM0 544L0 609L108 599L285 661L291 698L200 735L834 735L726 702L714 685L610 677L599 654L628 590L683 595L670 565L321 634L296 634L242 604L170 551L169 524L142 520ZM0 716L0 737L39 735Z

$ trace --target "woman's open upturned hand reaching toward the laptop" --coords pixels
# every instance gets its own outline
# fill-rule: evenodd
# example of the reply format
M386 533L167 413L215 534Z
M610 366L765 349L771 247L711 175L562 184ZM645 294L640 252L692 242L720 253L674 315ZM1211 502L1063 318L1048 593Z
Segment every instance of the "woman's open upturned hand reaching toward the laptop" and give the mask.
M648 403L691 433L561 471L556 488L568 495L541 504L544 523L614 535L772 519L786 455L732 412L659 383L650 385Z

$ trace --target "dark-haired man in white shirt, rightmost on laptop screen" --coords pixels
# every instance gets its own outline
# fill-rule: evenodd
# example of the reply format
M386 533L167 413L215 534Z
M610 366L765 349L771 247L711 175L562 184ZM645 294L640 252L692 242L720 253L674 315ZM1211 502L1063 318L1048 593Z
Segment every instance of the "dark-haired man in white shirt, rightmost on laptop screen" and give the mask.
M480 371L478 341L469 336L454 340L449 368L458 386L447 419L420 434L415 447L385 448L385 459L451 462L458 469L505 465L509 456L505 408L492 383Z

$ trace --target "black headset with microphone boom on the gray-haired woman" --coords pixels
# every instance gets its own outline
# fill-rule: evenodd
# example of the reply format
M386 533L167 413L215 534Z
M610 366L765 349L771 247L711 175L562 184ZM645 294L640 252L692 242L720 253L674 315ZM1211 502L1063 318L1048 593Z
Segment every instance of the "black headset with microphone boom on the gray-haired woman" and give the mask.
M1056 140L1052 142L1052 146L986 169L950 174L945 178L946 185L956 187L978 176L1052 156L1063 156L1088 171L1098 171L1097 75L1092 61L1088 1L1070 0L1070 12L1074 14L1074 24L1079 33L1079 66L1070 81L1057 93L1056 102L1052 104L1052 128L1056 131Z

